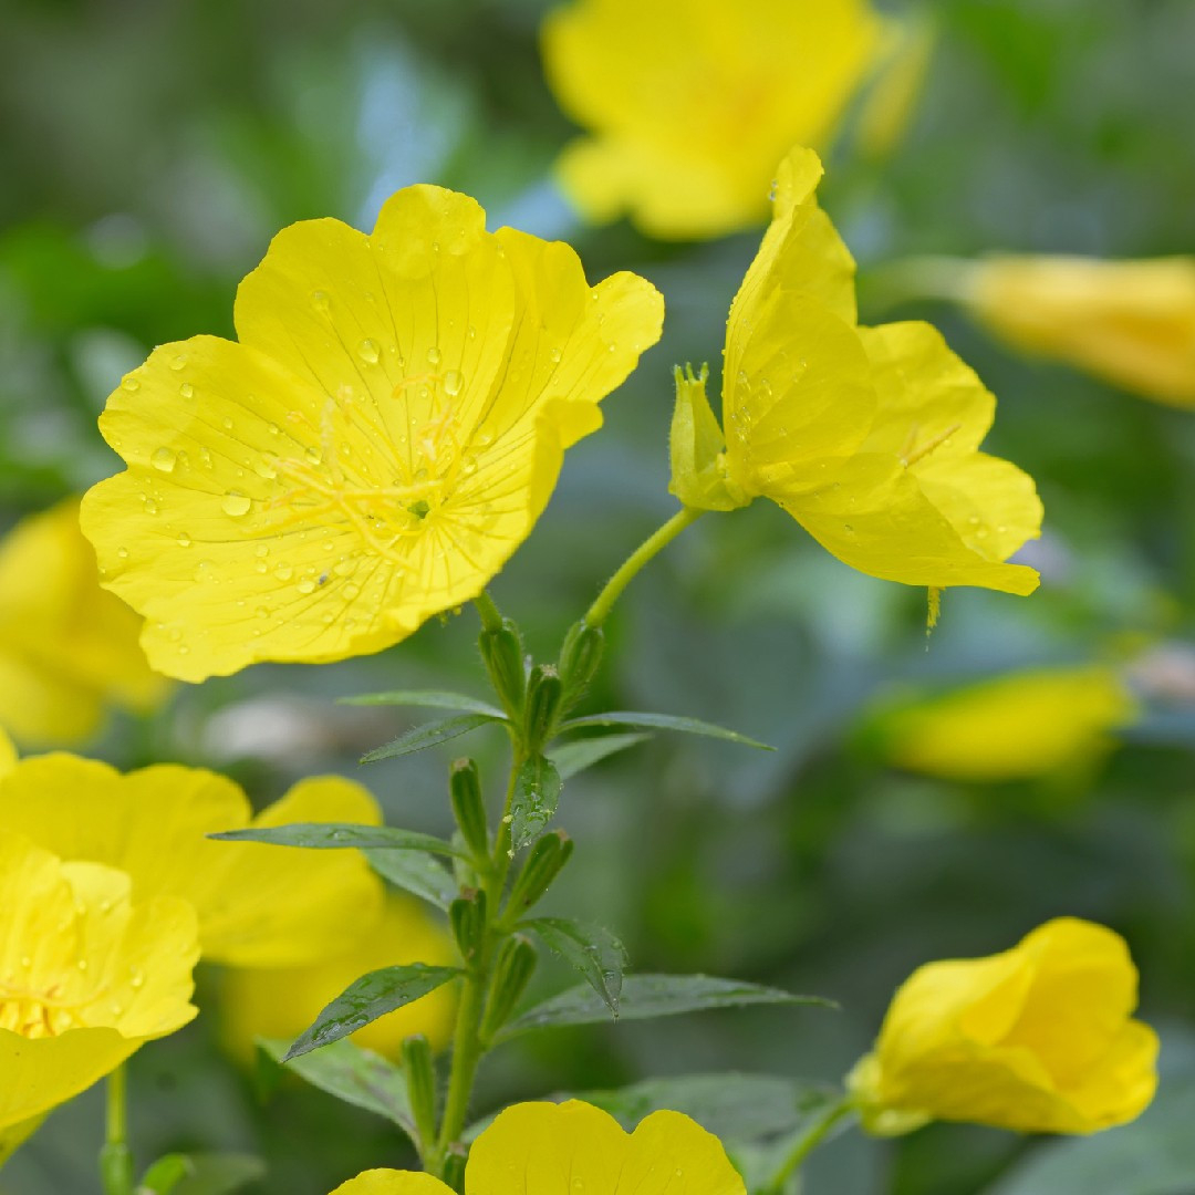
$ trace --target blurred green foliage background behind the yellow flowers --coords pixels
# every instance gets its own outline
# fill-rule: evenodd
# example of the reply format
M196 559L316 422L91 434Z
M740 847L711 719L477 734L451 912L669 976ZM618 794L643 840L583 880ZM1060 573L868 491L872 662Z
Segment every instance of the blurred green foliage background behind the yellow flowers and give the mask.
M116 470L96 431L108 392L158 343L232 335L235 284L275 231L319 215L369 227L391 191L436 182L479 198L491 227L570 240L592 278L637 270L668 304L662 344L607 402L606 430L570 453L534 537L492 587L551 655L674 509L670 368L717 368L758 234L663 246L625 222L577 222L551 182L571 130L538 59L547 7L0 0L0 523ZM1042 589L951 590L927 642L923 592L851 572L768 504L687 533L619 607L592 707L704 717L779 749L661 737L571 782L559 823L578 850L547 911L615 929L636 969L776 983L841 1011L557 1030L497 1055L477 1110L688 1071L835 1080L918 963L999 950L1077 914L1124 933L1140 964L1144 1016L1164 1038L1147 1116L1062 1145L940 1124L895 1144L848 1135L817 1157L808 1190L1189 1195L1195 1169L1182 1165L1132 1182L1184 1142L1195 1168L1195 413L1021 360L949 310L881 308L869 270L906 253L1190 251L1195 5L934 11L940 39L905 143L882 164L832 153L822 200L859 259L864 318L933 319L999 396L988 448L1028 470L1046 502L1046 533L1023 557ZM466 611L373 658L182 687L88 750L125 767L226 770L262 803L339 770L391 822L443 832L445 768L466 748L358 770L361 749L410 723L332 701L421 685L476 692L474 633ZM901 685L1092 658L1138 660L1146 715L1081 780L918 778L887 768L858 733ZM497 780L502 743L486 734L467 749ZM543 992L569 982L554 964L537 979ZM213 987L204 976L201 992ZM296 1195L409 1160L380 1121L314 1090L258 1099L217 1050L216 1019L209 1004L134 1059L142 1157L257 1152L270 1171L252 1190ZM92 1092L18 1153L2 1190L91 1190L100 1132Z

